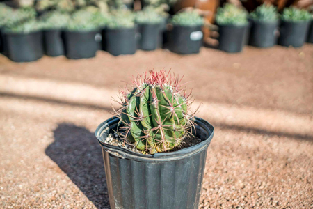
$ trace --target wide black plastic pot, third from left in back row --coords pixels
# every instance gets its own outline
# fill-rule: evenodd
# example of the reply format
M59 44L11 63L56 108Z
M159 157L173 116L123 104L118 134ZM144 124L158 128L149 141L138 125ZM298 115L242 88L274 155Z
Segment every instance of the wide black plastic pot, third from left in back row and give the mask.
M69 59L95 57L101 49L101 31L65 31L65 55Z

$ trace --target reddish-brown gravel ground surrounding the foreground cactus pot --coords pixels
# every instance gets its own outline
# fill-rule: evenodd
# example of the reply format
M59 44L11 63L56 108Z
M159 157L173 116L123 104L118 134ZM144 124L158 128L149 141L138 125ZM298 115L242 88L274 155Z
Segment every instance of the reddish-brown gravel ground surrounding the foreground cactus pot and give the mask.
M216 127L199 208L313 208L312 134L275 132L275 126L251 129L248 120L241 127L227 125L232 107L245 112L253 107L258 115L286 111L298 121L312 122L312 60L312 45L248 47L231 55L202 49L198 56L157 51L113 58L99 52L90 60L44 57L23 64L0 56L0 73L113 90L120 84L113 77L124 79L152 63L188 73L185 80L198 78L190 84L200 88L195 98L225 103L230 114L210 117L204 109L198 115ZM0 89L0 208L109 208L102 152L94 136L97 125L109 118L107 111Z

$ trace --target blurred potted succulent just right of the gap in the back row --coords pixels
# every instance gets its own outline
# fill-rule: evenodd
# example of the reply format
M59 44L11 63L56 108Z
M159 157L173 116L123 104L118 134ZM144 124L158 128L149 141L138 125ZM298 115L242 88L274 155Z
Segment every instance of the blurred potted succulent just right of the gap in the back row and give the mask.
M218 49L225 52L241 52L248 33L247 12L230 3L218 8Z

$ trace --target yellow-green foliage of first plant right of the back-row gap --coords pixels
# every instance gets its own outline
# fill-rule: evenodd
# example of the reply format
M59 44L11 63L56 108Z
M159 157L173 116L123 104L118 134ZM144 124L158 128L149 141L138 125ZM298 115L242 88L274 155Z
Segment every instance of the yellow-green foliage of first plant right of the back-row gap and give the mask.
M243 8L238 8L231 3L225 3L218 8L216 13L216 23L219 25L242 26L248 24L248 13Z

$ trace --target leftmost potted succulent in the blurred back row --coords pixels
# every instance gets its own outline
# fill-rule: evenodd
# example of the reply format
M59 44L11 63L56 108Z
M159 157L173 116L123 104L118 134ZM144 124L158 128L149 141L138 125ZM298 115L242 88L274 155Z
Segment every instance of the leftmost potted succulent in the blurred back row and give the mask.
M41 22L35 19L6 27L8 57L15 62L40 59L44 54L41 30Z

